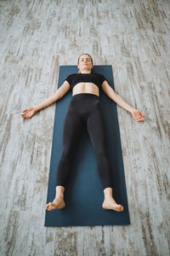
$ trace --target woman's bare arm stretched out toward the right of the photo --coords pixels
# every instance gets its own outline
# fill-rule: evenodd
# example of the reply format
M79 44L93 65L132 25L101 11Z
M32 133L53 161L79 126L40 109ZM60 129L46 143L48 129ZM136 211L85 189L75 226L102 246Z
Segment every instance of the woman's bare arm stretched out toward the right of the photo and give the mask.
M125 102L121 96L116 94L115 90L111 88L111 86L105 80L102 84L102 89L105 91L105 94L111 98L114 102L116 102L119 106L126 109L129 113L133 115L133 118L136 121L144 121L144 113L142 111L131 107Z

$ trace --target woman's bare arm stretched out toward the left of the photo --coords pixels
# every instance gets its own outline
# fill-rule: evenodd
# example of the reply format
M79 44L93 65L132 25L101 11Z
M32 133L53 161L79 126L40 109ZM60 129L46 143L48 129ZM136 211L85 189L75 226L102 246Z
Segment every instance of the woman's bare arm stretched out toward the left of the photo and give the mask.
M65 96L68 90L70 90L70 84L65 80L65 82L54 93L54 95L49 96L45 101L31 108L26 108L25 110L22 111L21 116L23 118L28 118L28 119L31 118L38 110L42 108L47 108L49 105L53 104L54 102L59 101L60 98Z

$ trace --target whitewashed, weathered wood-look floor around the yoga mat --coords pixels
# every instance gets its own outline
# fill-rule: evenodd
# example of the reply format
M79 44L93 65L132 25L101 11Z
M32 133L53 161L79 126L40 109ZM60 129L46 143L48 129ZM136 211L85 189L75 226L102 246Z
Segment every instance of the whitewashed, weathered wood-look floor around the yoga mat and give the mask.
M170 1L0 1L0 255L169 255ZM131 225L46 228L59 65L112 65Z

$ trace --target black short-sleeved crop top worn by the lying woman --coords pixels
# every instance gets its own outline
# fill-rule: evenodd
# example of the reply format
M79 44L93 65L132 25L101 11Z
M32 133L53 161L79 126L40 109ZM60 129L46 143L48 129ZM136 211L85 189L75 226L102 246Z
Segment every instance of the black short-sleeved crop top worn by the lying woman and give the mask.
M94 83L100 89L101 84L107 79L101 73L72 73L65 80L71 85L71 90L73 90L76 84L82 82Z

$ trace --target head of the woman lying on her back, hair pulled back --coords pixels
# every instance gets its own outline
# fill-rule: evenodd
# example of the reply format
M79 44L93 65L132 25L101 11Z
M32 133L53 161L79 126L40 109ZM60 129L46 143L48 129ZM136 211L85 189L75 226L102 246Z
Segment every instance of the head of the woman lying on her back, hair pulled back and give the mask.
M91 69L94 67L94 61L90 55L82 54L78 57L77 67L78 73L83 73L83 71L90 71L91 73Z

